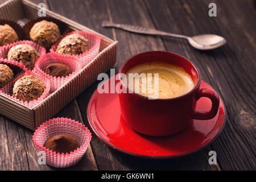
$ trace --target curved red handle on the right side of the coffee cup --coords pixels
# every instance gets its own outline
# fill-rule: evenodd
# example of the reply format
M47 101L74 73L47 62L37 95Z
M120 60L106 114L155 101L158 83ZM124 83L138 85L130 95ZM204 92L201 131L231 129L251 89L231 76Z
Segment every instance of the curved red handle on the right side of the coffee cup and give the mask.
M212 119L218 113L218 107L220 106L220 98L218 94L213 90L207 88L201 88L196 92L196 101L201 97L208 97L212 101L212 108L210 111L193 110L191 114L192 119Z

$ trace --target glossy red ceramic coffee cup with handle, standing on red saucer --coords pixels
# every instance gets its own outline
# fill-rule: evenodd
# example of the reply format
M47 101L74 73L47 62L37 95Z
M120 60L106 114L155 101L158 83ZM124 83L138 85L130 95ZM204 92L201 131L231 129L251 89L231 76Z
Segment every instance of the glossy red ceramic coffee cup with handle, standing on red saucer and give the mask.
M120 73L125 74L135 65L150 61L163 61L182 67L191 76L194 88L183 96L155 100L131 92L122 81ZM185 57L172 52L150 51L131 57L119 69L119 81L122 89L127 92L119 93L122 117L132 129L146 135L161 137L178 133L184 130L192 119L214 118L220 105L216 92L206 88L199 89L201 79L195 65ZM208 97L212 101L210 111L195 109L200 97Z

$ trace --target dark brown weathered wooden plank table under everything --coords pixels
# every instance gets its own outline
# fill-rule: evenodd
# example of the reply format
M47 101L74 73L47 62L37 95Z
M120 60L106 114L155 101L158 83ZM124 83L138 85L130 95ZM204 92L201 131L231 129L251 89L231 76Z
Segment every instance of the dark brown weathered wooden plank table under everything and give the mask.
M0 0L3 1L3 0ZM43 0L33 0L35 3ZM203 80L224 98L226 126L220 137L196 154L171 160L148 160L121 154L93 134L84 158L68 170L255 170L255 10L249 1L233 0L48 0L47 7L93 30L118 40L118 65L132 55L150 50L179 53L200 69ZM208 16L215 2L217 17ZM217 34L227 44L212 51L199 51L186 40L131 34L102 28L102 20L134 24L184 35ZM68 117L88 126L86 106L98 81L64 107L56 117ZM0 170L56 170L37 163L32 131L0 115ZM208 153L217 152L217 164Z

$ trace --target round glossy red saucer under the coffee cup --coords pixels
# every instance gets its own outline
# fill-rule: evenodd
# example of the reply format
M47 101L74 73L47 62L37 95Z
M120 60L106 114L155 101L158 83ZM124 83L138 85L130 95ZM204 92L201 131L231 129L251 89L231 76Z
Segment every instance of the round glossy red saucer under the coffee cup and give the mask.
M110 78L111 82L115 77ZM201 88L213 89L201 81ZM208 98L200 98L196 109L210 110ZM226 109L220 100L216 117L207 121L193 120L191 125L169 137L149 137L137 133L123 121L117 93L102 93L98 90L90 98L87 118L94 133L108 146L125 154L150 159L177 158L202 150L220 135L225 126Z

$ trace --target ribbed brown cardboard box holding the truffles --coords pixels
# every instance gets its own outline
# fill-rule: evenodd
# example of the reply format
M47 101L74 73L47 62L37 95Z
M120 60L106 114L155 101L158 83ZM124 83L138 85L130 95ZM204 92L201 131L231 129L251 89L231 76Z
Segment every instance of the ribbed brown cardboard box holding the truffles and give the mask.
M38 5L30 1L11 0L0 6L0 17L24 24L30 19L38 18L38 10ZM46 15L61 20L73 31L82 30L99 35L101 37L101 44L98 55L89 64L42 102L32 107L32 109L0 94L0 114L13 119L31 130L35 130L44 121L57 114L64 106L97 80L98 74L108 71L117 61L117 41L98 34L90 28L52 11L46 10Z

